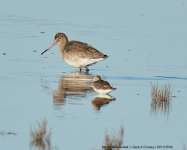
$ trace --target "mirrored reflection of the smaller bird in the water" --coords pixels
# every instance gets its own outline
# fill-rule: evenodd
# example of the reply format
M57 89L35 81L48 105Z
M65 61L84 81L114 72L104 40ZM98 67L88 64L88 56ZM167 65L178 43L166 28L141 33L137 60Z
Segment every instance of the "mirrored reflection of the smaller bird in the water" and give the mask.
M109 104L114 100L115 98L113 98L109 94L97 94L92 100L93 110L100 110L101 106Z

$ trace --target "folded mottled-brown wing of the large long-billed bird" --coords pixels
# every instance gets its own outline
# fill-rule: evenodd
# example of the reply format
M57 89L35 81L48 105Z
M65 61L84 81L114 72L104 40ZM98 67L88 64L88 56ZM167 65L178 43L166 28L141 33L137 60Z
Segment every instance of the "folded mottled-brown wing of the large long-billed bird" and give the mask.
M76 58L89 58L89 59L95 59L95 58L104 58L106 55L101 53L100 51L96 50L94 47L78 42L78 41L70 41L65 46L65 53L69 57Z

